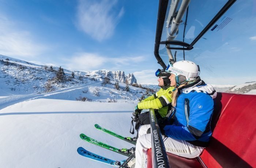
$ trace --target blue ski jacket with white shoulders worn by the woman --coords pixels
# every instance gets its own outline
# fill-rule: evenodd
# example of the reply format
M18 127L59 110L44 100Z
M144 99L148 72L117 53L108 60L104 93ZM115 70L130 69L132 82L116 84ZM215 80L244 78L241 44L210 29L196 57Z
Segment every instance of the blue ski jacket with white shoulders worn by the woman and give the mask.
M206 147L210 140L211 117L217 92L211 85L198 81L178 88L173 125L164 127L165 135L185 140L195 146Z

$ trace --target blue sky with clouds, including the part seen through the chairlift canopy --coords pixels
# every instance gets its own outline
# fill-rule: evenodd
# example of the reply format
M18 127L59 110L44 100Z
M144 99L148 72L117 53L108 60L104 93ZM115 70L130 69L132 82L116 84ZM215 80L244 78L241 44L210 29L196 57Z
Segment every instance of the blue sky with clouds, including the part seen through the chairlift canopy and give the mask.
M153 53L157 0L147 3L136 0L0 0L0 3L0 54L70 70L123 70L126 74L134 73L139 83L157 83L154 72L161 68ZM212 40L201 39L195 49L186 52L187 60L202 67L201 77L208 83L241 84L256 79L256 52L252 47L256 46L255 3L253 0L243 3L239 14L241 3L238 0L225 15L233 19L225 28L205 35ZM190 10L193 12L193 5ZM198 23L205 26L203 21L205 19ZM228 38L221 41L214 38L223 34L228 34ZM248 43L237 41L233 34ZM183 57L179 52L177 56L178 59ZM249 73L242 70L232 73L236 71L234 66L247 68ZM223 67L226 72L222 71ZM242 80L238 81L238 76Z

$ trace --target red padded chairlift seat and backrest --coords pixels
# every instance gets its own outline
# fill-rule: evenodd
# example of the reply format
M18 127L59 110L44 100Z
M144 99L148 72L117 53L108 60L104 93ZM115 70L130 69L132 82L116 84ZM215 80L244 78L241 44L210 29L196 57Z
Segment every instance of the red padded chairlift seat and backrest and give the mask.
M167 153L172 168L256 167L256 95L218 93L214 102L210 145L194 159Z

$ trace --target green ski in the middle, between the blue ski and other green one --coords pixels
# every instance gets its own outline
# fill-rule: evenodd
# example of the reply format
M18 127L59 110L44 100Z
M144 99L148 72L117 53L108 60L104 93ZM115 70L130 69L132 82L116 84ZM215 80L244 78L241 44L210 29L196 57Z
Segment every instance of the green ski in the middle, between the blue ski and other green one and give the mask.
M108 145L108 144L104 144L103 142L94 140L93 138L87 137L87 136L84 135L84 134L80 134L80 138L81 138L82 140L86 141L86 142L90 142L91 144L101 146L101 147L103 147L103 148L112 150L112 151L114 151L114 152L123 154L123 155L125 155L125 156L131 156L131 154L124 153L124 152L119 152L119 151L118 151L118 150L119 150L118 148L115 148L115 147L110 146L110 145Z

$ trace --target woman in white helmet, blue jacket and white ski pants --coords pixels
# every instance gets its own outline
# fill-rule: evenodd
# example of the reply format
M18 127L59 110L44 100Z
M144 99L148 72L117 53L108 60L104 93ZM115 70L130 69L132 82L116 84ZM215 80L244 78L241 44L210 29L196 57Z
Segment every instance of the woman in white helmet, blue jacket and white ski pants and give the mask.
M171 86L172 106L176 109L174 122L162 128L166 152L194 158L208 145L212 131L210 127L214 99L217 95L211 85L199 77L199 66L191 61L169 63L166 72ZM136 143L135 167L145 167L146 150L151 148L151 135L147 134L150 125L141 126Z

